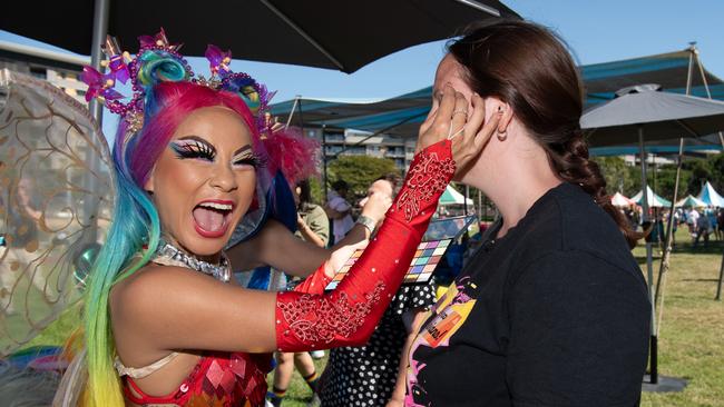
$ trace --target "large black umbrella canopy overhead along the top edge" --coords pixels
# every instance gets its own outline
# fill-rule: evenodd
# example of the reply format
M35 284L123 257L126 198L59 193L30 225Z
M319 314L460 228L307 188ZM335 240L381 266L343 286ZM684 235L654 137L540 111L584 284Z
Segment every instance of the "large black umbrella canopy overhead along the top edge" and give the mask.
M91 52L92 0L12 1L0 28L81 54ZM354 72L398 50L453 37L471 22L517 18L497 0L110 1L108 33L134 51L163 27L183 53L208 43L234 58Z

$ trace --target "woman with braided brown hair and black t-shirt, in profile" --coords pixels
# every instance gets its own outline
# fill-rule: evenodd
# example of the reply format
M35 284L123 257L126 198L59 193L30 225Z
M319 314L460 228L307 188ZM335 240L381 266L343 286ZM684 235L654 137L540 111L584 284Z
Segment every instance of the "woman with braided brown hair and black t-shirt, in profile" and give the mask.
M482 98L486 116L502 113L457 176L501 217L419 318L404 404L637 405L650 318L629 251L639 236L588 159L581 83L566 47L530 22L478 27L440 62L432 113L446 83L473 103ZM391 404L402 403L401 387Z

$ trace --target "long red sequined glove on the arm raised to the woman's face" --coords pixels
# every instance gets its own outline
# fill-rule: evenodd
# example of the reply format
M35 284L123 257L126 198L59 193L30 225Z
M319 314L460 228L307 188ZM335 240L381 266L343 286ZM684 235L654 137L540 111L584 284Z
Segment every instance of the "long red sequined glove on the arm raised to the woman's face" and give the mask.
M276 347L304 351L368 341L400 288L438 199L456 170L451 142L420 151L378 235L329 294L276 295ZM316 284L315 284L316 286Z

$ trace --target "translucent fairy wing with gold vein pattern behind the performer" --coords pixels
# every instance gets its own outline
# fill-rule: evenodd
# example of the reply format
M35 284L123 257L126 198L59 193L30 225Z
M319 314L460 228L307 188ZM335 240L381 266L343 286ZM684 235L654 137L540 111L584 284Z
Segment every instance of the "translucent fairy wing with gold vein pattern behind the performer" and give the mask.
M80 298L112 215L111 168L84 105L0 70L0 355Z

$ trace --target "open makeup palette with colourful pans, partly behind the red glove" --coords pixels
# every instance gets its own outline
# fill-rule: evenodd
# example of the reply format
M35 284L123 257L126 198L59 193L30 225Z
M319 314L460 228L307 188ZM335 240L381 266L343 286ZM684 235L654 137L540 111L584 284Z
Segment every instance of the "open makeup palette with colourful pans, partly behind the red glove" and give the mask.
M410 267L408 268L408 272L404 275L402 284L415 285L429 282L432 278L432 272L434 272L436 267L440 264L440 259L442 259L446 250L450 247L451 241L452 239L440 239L421 242L418 246L418 250L414 252L412 261L410 261ZM336 288L344 276L350 272L350 269L360 256L362 256L362 252L363 250L354 251L352 257L350 257L344 266L336 271L332 281L330 281L324 289L332 290Z

